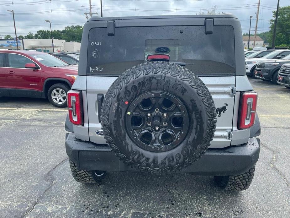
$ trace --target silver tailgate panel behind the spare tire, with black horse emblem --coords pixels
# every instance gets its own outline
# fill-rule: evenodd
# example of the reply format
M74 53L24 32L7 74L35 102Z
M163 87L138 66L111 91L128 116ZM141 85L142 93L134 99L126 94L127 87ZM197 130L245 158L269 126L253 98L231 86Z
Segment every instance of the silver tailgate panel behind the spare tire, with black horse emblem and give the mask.
M106 144L103 135L100 134L101 124L99 120L100 102L98 94L105 95L116 77L87 77L87 102L88 102L88 128L90 141L98 144ZM214 99L217 109L217 127L212 148L223 148L231 144L235 102L235 77L200 77L208 87Z

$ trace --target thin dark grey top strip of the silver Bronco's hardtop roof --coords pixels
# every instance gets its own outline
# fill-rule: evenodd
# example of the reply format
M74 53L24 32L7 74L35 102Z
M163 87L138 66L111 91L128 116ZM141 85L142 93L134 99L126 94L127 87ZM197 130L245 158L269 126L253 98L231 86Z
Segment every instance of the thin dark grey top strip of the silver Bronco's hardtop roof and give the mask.
M98 20L128 20L128 19L165 19L165 18L235 18L238 19L233 14L206 14L206 15L158 15L158 16L131 16L131 17L97 17L93 16L89 21Z

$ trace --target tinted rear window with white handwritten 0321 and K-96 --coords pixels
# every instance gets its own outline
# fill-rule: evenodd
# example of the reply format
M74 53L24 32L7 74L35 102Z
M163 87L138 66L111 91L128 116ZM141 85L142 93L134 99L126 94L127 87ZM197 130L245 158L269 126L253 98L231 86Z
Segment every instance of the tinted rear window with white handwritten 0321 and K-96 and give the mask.
M147 62L150 54L166 53L171 62L194 63L185 67L197 75L235 74L233 27L205 26L116 27L108 36L107 28L89 32L87 74L119 75Z

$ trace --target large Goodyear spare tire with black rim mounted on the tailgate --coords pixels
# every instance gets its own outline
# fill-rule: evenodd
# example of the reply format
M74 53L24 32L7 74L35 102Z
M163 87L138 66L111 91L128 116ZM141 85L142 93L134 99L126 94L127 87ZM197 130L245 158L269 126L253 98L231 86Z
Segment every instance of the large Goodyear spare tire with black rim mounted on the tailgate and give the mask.
M170 62L149 62L121 74L101 109L106 142L141 172L167 173L191 165L214 137L216 110L205 84Z

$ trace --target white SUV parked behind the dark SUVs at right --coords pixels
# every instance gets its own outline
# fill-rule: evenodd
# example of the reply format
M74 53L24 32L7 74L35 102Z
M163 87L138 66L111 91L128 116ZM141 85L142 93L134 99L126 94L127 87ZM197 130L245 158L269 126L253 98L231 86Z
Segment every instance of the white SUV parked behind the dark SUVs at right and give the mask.
M255 68L260 61L266 61L269 59L280 59L290 54L290 49L280 49L273 51L261 58L246 59L246 74L249 76L255 76Z

